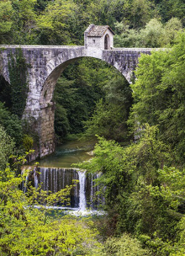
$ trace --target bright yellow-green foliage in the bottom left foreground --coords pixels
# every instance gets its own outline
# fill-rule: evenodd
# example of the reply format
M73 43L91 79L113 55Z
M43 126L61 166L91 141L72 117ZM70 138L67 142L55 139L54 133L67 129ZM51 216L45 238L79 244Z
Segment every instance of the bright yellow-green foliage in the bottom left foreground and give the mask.
M8 144L7 144L8 145ZM5 146L5 144L3 145ZM18 157L18 163L25 161ZM16 163L16 165L18 164ZM97 232L91 222L66 216L50 217L46 206L66 200L70 187L47 195L28 185L25 195L18 186L25 182L27 172L15 176L15 170L0 169L0 253L2 255L92 255L98 248ZM45 202L40 209L38 201Z

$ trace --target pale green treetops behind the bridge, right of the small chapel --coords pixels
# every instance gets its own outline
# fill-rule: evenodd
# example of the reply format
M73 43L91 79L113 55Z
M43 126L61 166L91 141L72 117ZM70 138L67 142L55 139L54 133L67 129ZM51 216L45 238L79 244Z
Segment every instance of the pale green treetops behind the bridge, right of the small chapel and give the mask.
M142 29L129 29L129 25L122 21L115 24L118 35L115 35L117 47L166 47L174 45L178 31L182 30L182 22L172 18L166 24L160 19L151 19Z

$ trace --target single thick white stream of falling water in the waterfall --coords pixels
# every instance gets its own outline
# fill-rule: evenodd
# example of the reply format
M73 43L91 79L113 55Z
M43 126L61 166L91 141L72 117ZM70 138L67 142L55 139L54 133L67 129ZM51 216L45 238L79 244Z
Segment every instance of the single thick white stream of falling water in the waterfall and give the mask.
M79 184L80 184L80 203L79 203L79 211L86 210L86 194L85 194L85 182L86 182L86 172L78 171L79 176Z

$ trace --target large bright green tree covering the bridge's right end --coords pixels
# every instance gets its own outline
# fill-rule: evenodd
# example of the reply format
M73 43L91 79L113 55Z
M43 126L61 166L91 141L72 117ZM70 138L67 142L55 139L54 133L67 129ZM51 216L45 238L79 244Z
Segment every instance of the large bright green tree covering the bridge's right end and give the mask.
M184 33L170 51L141 56L131 87L135 104L130 117L140 125L159 125L161 137L184 159Z

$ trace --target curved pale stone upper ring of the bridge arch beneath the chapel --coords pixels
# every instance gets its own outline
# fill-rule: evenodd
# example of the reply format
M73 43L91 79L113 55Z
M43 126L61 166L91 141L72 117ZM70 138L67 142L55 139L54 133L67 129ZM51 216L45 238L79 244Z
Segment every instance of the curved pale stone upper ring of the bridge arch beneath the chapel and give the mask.
M108 41L107 41L108 43ZM108 46L108 45L107 45ZM73 50L73 51L72 51ZM107 57L108 56L108 57ZM129 55L128 55L129 56ZM100 61L105 61L108 65L115 67L130 83L130 77L132 76L135 59L130 60L130 56L118 58L116 51L77 51L77 49L70 49L70 51L59 53L46 63L47 75L41 86L40 92L40 105L45 107L46 104L52 104L52 97L56 87L58 78L61 73L66 69L72 62L77 61L83 57L92 57Z

